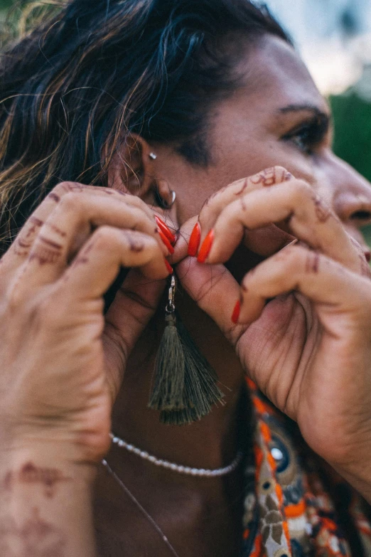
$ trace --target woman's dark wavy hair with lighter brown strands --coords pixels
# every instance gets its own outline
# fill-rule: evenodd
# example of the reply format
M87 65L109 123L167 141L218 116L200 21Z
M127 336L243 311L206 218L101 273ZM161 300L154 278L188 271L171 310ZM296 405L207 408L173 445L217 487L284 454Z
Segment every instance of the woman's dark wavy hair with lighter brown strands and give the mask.
M290 42L249 0L53 5L1 55L3 244L58 182L107 185L109 163L133 132L207 166L210 105L238 86L241 41L271 33Z

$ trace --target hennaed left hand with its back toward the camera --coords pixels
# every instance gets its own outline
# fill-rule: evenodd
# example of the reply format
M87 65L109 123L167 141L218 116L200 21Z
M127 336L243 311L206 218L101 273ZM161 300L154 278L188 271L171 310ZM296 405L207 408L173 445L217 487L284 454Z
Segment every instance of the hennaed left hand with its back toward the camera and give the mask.
M58 440L77 460L109 447L127 358L169 273L154 213L112 189L63 183L0 260L0 439ZM132 267L103 316L120 266Z

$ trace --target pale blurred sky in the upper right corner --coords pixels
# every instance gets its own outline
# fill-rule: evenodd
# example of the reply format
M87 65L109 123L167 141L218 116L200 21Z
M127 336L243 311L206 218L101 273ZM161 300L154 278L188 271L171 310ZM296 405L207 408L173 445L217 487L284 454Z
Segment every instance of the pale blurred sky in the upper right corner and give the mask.
M266 0L323 94L340 93L371 64L370 0Z

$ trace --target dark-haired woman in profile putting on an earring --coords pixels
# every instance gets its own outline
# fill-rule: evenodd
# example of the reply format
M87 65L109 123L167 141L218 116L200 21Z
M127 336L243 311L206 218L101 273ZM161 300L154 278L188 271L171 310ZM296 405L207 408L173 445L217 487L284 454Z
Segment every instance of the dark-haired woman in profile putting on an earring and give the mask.
M71 0L1 84L1 556L371 555L371 186L284 31ZM225 395L183 427L148 408L170 264Z

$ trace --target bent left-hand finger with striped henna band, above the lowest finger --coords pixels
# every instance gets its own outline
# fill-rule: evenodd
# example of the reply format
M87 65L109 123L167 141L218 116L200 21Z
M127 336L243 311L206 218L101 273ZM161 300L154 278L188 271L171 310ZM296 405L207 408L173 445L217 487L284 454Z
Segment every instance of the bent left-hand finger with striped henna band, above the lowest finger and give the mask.
M168 255L154 215L150 212L148 216L135 206L130 199L133 196L117 199L84 192L84 195L70 192L61 198L39 230L25 268L20 271L21 281L28 289L57 280L92 228L102 225L140 230L151 235L163 255Z

